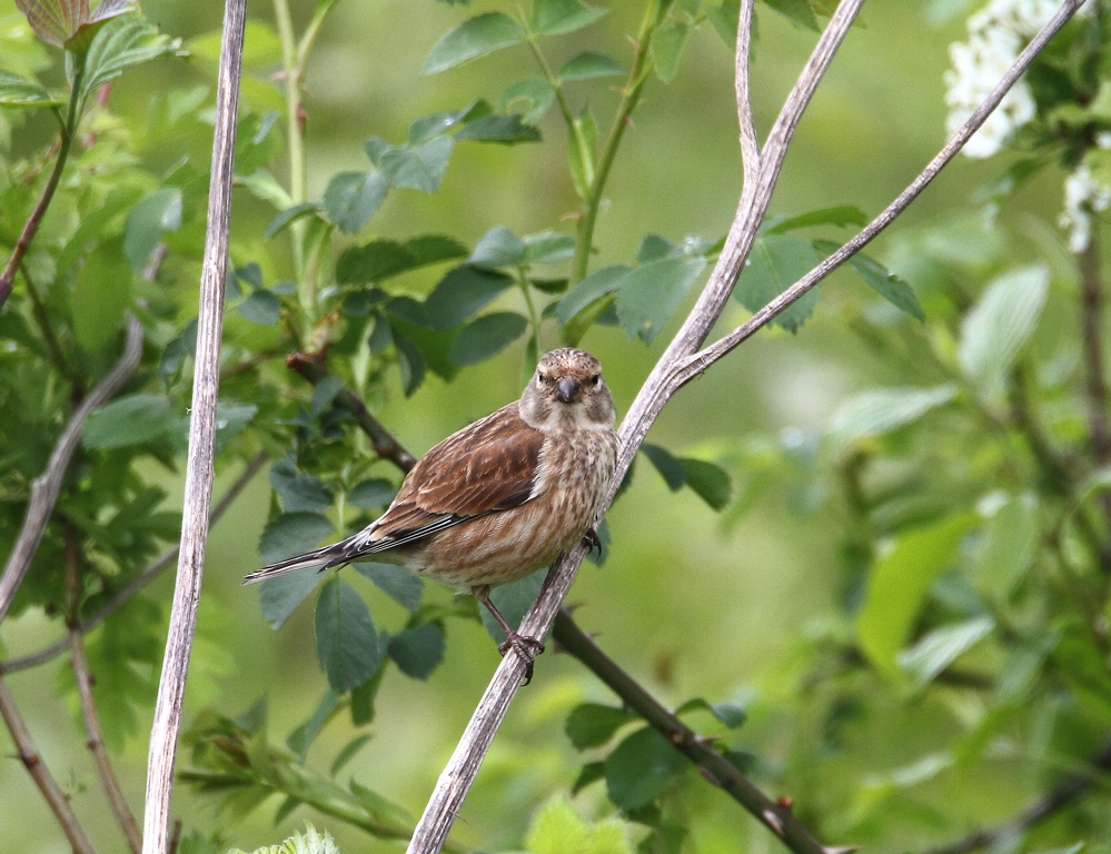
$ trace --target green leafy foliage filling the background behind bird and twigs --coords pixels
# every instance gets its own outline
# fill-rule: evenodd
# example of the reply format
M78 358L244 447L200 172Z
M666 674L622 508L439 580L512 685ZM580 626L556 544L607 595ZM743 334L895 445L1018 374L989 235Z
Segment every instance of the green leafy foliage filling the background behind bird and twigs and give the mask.
M70 665L10 665L110 609L88 657L137 807L169 583L116 603L177 537L219 51L214 9L109 18L117 6L37 38L0 2L4 257L60 175L0 311L4 554L129 314L146 336L139 371L85 424L0 646L105 851L120 843L67 711ZM723 327L933 153L968 6L869 8ZM757 7L758 128L831 7ZM954 163L870 256L673 401L601 532L604 570L573 594L623 666L831 844L925 848L1062 785L1082 796L996 850L1098 851L1111 834L1099 210L1079 255L1053 228L1059 167L1105 166L1111 10L1095 7L1032 69L1034 116L999 162ZM376 564L268 582L258 602L238 580L389 503L406 458L383 425L426 448L516 397L561 341L599 354L627 404L736 203L736 7L251 11L217 466L227 485L264 454L268 488L249 485L214 529L179 851L272 843L309 812L341 850L395 850L495 662L474 602ZM510 620L538 580L496 592ZM0 803L21 851L56 850L14 763ZM453 838L536 854L776 844L550 654ZM334 843L310 825L275 850Z

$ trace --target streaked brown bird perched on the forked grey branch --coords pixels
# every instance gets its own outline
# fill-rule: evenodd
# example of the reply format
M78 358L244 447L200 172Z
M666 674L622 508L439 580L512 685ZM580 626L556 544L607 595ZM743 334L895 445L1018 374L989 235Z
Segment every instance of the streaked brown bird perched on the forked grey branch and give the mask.
M598 360L585 350L540 359L520 399L429 450L393 504L363 530L262 567L261 582L295 569L320 572L360 558L470 588L532 673L544 646L522 637L490 602L490 587L548 566L586 538L617 463L614 404Z

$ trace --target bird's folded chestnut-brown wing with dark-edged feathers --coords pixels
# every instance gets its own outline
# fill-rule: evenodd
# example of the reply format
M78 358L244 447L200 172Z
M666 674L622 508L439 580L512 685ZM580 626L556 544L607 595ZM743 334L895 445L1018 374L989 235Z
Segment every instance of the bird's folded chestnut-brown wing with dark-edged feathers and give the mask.
M543 446L544 434L522 420L516 404L464 427L413 467L365 547L393 548L524 504Z

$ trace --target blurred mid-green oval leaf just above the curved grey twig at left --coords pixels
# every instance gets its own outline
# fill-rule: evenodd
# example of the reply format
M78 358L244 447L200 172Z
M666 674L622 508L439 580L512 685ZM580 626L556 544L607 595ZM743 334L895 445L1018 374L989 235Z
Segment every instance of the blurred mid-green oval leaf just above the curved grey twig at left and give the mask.
M117 238L97 247L73 282L73 335L88 352L111 344L131 302L131 268Z

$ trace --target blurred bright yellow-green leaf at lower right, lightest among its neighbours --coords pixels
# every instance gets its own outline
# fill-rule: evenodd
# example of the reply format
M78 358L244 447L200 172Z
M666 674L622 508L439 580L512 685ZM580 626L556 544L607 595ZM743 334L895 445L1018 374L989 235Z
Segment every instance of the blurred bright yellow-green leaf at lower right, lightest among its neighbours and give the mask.
M904 534L872 567L864 606L856 615L856 634L861 648L881 672L897 674L895 656L930 586L976 522L973 514L960 514Z

